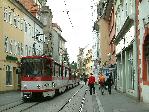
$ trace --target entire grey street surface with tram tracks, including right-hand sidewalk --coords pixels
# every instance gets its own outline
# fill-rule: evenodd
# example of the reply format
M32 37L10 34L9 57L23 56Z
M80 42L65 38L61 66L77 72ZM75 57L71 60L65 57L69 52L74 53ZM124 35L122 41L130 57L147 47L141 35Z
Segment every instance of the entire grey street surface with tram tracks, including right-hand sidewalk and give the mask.
M0 101L0 112L149 112L149 104L140 103L114 89L111 95L107 90L101 95L96 85L96 94L90 95L83 82L42 102L22 102L20 92L1 93Z

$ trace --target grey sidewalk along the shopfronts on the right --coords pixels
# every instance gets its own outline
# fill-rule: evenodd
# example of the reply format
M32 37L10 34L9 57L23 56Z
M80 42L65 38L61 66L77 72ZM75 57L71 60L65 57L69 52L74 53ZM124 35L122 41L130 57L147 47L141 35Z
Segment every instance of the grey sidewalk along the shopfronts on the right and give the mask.
M101 95L101 91L96 86L96 93L100 112L149 112L149 104L138 102L114 89L112 89L111 95L107 90L104 95Z

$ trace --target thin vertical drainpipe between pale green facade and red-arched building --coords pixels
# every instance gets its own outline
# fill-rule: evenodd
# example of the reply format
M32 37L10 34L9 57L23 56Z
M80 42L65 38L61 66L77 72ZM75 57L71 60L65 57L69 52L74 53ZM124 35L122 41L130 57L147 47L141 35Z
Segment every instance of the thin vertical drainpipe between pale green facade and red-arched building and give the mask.
M139 46L138 46L138 6L137 6L137 4L139 4L138 3L139 2L139 0L135 0L135 21L134 21L134 25L135 25L135 48L136 48L136 59L137 59L137 61L136 61L136 74L138 75L138 79L137 79L137 86L138 86L138 100L140 101L140 95L141 95L141 93L140 93L140 73L139 73L139 65L138 65L138 61L139 61Z

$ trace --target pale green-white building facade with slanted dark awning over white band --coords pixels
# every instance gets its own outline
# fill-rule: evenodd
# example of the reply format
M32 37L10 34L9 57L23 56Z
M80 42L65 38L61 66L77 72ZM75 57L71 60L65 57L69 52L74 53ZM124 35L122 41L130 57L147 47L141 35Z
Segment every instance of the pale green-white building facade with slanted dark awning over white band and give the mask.
M135 1L116 1L117 89L138 96Z

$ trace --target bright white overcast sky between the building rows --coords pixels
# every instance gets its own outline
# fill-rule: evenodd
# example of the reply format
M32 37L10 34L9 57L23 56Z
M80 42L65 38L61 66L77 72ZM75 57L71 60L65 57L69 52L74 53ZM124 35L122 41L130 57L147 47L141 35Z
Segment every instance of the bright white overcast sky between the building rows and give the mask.
M92 41L92 26L96 20L96 0L47 0L53 22L62 29L70 62L77 61L79 47ZM91 44L90 44L91 45Z

